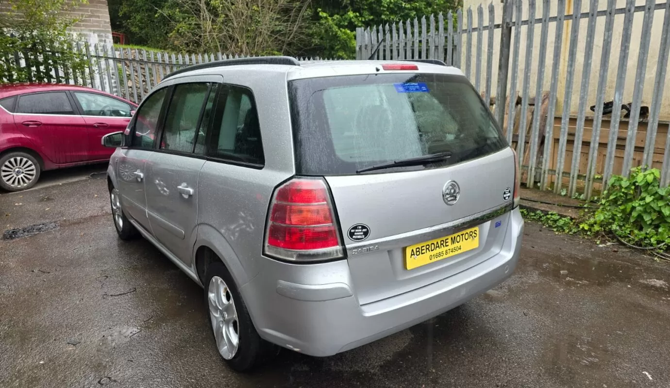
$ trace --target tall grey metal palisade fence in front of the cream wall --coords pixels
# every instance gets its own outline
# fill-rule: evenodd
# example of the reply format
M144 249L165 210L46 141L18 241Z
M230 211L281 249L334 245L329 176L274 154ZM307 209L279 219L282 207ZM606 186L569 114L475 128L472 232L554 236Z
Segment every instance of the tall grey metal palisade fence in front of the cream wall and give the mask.
M670 185L670 2L618 3L505 0L358 28L356 58L382 42L374 59L460 68L496 112L528 187L590 198L636 166L661 169Z

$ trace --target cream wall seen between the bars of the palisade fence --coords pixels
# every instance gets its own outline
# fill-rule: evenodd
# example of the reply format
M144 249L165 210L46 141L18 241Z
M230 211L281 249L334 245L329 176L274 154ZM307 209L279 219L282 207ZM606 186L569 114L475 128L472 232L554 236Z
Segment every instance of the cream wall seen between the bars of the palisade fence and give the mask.
M661 2L657 0L657 2ZM535 18L540 18L542 17L542 7L543 7L543 2L538 1L537 6L535 9ZM550 11L549 11L549 16L555 16L557 13L557 1L551 0L549 1L550 3ZM488 25L488 1L484 0L464 0L464 9L468 9L468 7L472 7L473 11L473 25L476 27L477 23L477 12L476 12L476 7L478 5L482 5L484 7L484 24ZM645 0L636 0L636 5L644 5ZM495 23L500 23L502 19L502 3L499 0L495 0L493 2L494 10L495 10ZM617 8L624 8L626 6L625 0L616 0L616 7ZM574 7L574 0L566 0L565 1L565 14L572 14L573 12L573 7ZM607 7L607 0L598 0L598 10L604 10ZM582 7L581 7L581 12L588 12L589 8L589 1L588 0L582 0ZM652 29L651 29L651 40L649 42L649 56L647 59L647 66L646 66L646 72L645 72L645 78L644 78L644 88L643 88L643 98L642 98L642 104L651 106L651 96L653 92L653 83L655 80L655 75L656 75L656 68L657 68L657 62L659 60L659 44L661 41L661 26L663 24L663 17L664 17L665 11L660 10L660 11L654 11L653 12L653 24L652 24ZM523 1L523 19L528 19L529 15L529 7L528 7L528 1ZM515 15L515 21L517 19L517 15ZM593 44L593 51L592 51L592 65L589 69L586 71L589 72L590 74L590 82L589 82L589 89L588 89L588 98L586 100L586 106L587 106L587 115L592 114L590 110L588 110L588 106L592 106L596 102L596 93L597 93L597 86L598 86L598 75L600 74L600 71L603 66L600 64L600 56L602 54L602 46L603 46L603 40L604 40L604 26L605 26L605 17L596 17L596 29L595 29L595 35L594 35L594 44ZM621 40L622 40L622 26L624 22L624 15L615 15L614 17L614 31L612 35L612 51L610 54L610 60L609 60L609 68L608 68L608 75L607 75L607 82L606 82L606 88L605 88L605 101L610 101L614 98L614 88L616 85L616 74L618 71L618 62L619 62L619 57L620 57L620 47L621 47ZM463 17L463 27L466 28L466 23L467 23L467 16L466 13L464 13ZM581 88L581 83L582 83L582 75L584 74L583 71L583 66L584 66L584 55L585 55L585 48L586 48L586 32L587 32L587 25L588 25L588 19L580 19L579 21L579 35L578 35L578 46L577 46L577 55L576 55L576 60L574 63L574 81L573 81L573 86L572 86L572 101L570 102L570 112L571 114L577 114L578 111L578 106L580 104L580 88ZM628 103L632 101L632 94L633 94L633 88L634 88L634 78L635 78L635 72L637 68L637 61L639 57L639 50L640 50L640 39L641 39L641 32L642 32L642 27L643 27L643 12L636 12L634 13L634 18L633 18L633 25L632 25L632 34L630 37L630 54L628 56L628 62L626 66L626 82L625 82L625 87L624 87L624 93L623 93L623 103ZM553 50L554 50L554 39L555 39L555 29L556 29L556 23L552 22L549 23L549 34L548 34L548 39L547 39L547 45L546 45L546 52L545 52L545 72L544 72L544 80L543 80L543 90L549 90L549 87L551 85L551 66L554 62L553 58ZM557 82L558 82L558 97L557 97L557 109L556 112L557 114L561 114L562 109L563 109L563 96L565 94L565 84L567 80L567 70L568 70L568 62L567 62L567 57L568 57L568 52L569 52L569 45L570 45L570 34L571 34L571 29L572 29L572 21L565 21L563 23L563 39L561 41L561 58L559 62L559 72L557 76ZM486 74L485 66L486 66L486 39L487 39L487 32L484 31L482 32L483 34L483 44L484 47L482 47L482 80L481 80L481 89L484 90L484 76ZM531 77L530 77L530 93L531 96L535 94L535 86L537 85L537 76L538 76L538 58L540 55L540 37L541 37L541 24L538 23L535 25L535 28L533 29L533 34L534 34L534 42L533 42L533 48L532 50L527 49L527 37L528 37L528 26L523 26L521 27L521 41L519 45L519 68L517 70L518 78L517 78L517 86L509 86L508 90L521 90L522 85L523 85L523 72L525 68L525 58L528 54L530 54L532 57L532 62L531 62ZM475 59L476 59L476 41L477 41L477 34L473 33L472 34L472 70L471 70L471 76L470 79L473 81L474 84L474 74L475 74ZM515 29L513 29L513 38L515 37ZM498 56L499 56L499 43L500 43L500 29L496 29L494 33L494 45L493 45L493 69L492 69L492 81L493 84L495 85L497 82L497 68L498 68ZM466 56L466 37L464 35L463 39L463 50L462 50L462 68L465 69L465 56ZM514 47L514 40L512 41L512 50ZM512 56L514 52L512 51ZM512 60L511 56L511 60ZM663 60L663 64L665 65L665 62L667 62L667 58ZM465 71L465 70L464 70ZM511 69L511 71L514 71ZM495 90L495 88L494 88ZM665 95L670 94L670 72L667 72L666 78L665 78ZM664 98L663 103L661 106L661 115L660 115L661 120L668 120L670 119L670 98Z

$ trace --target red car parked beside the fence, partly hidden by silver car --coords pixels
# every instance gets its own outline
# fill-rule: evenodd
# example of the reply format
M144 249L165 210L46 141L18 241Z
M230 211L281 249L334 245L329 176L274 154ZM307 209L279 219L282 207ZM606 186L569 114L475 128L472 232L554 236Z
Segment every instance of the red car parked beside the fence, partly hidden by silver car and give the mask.
M29 189L40 172L109 160L100 139L125 130L137 105L91 88L0 85L0 188Z

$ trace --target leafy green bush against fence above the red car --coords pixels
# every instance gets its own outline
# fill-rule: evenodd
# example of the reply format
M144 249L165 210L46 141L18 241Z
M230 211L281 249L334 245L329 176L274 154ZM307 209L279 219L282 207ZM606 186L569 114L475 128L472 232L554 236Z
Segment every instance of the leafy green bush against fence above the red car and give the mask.
M67 31L78 19L64 17L62 11L82 3L84 0L8 2L9 11L0 13L0 80L63 82L74 74L81 79L88 62L73 50L75 37Z

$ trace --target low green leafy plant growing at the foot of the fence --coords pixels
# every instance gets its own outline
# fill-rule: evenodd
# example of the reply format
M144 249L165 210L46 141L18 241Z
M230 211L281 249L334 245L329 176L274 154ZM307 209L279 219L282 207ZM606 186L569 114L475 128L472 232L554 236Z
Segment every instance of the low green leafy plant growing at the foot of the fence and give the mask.
M641 247L670 242L670 188L659 187L658 169L630 171L630 177L614 176L600 197L600 209L580 224L587 234L614 233Z

